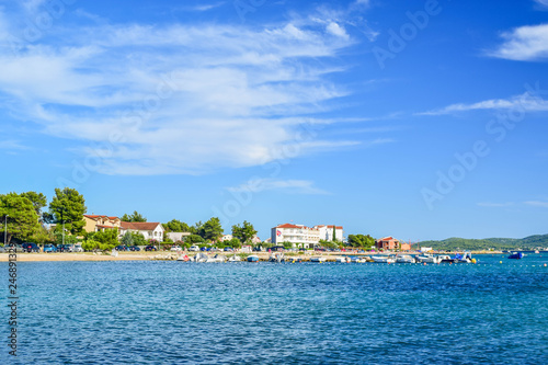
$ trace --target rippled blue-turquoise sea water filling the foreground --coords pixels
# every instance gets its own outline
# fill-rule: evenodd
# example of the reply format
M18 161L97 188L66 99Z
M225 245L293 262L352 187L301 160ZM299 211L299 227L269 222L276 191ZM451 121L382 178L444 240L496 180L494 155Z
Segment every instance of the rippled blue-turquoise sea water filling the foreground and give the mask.
M548 255L477 258L20 263L19 356L0 363L547 364Z

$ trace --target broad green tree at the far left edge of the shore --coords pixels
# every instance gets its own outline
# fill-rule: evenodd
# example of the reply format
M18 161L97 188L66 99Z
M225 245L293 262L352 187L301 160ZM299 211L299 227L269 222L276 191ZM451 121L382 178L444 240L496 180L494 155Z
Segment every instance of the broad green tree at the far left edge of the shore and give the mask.
M25 196L16 193L0 195L0 217L4 218L5 215L8 215L7 243L10 243L12 238L21 241L28 240L39 228L34 205Z

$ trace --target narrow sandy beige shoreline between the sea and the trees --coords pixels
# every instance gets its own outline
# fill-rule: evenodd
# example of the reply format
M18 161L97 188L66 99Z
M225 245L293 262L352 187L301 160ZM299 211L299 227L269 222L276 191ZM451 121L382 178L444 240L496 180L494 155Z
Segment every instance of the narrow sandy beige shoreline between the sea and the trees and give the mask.
M218 252L219 254L230 256L233 253L230 252ZM237 252L236 254L242 254L243 252ZM503 254L500 251L471 251L472 254ZM193 252L183 252L183 254L194 255ZM269 252L252 252L252 253L243 253L243 254L256 254L260 259L267 260L271 253ZM370 255L387 255L395 254L390 253L354 253L354 252L313 252L310 254L287 254L288 258L310 258L310 256L345 256L345 255L355 255L355 256L370 256ZM418 254L418 252L401 252L401 254ZM437 253L435 253L437 254ZM452 252L453 254L453 252ZM118 252L117 256L113 256L110 254L93 254L91 252L55 252L55 253L27 253L27 252L18 252L16 253L18 262L60 262L60 261L150 261L150 260L161 260L157 256L159 255L174 255L179 256L181 253L179 252L170 252L170 251L161 251L161 252ZM0 253L0 262L8 262L9 253Z

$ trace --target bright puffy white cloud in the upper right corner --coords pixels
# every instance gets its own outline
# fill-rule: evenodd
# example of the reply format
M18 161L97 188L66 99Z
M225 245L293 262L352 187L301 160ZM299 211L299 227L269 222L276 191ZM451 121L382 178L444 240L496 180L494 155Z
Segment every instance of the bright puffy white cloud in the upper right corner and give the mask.
M548 24L516 27L502 37L504 43L488 55L526 61L548 58Z

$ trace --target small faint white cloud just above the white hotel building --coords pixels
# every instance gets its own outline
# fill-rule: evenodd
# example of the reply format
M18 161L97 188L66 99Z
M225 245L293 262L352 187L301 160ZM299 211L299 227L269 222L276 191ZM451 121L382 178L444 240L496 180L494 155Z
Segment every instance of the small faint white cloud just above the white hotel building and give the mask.
M250 193L277 191L288 194L329 194L321 189L315 187L313 182L308 180L252 179L241 185L227 187L227 190L230 192Z

